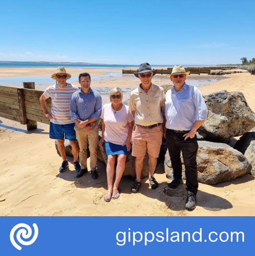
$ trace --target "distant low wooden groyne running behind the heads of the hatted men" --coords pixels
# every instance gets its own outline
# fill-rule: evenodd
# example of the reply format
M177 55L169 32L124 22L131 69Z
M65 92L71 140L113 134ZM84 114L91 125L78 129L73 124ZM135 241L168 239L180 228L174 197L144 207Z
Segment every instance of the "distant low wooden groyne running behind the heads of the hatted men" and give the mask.
M190 74L200 75L201 73L210 74L211 70L232 70L237 69L237 66L210 66L210 67L185 67L186 71L190 71ZM158 69L157 74L171 74L173 67L167 69ZM122 74L134 74L137 70L122 70Z

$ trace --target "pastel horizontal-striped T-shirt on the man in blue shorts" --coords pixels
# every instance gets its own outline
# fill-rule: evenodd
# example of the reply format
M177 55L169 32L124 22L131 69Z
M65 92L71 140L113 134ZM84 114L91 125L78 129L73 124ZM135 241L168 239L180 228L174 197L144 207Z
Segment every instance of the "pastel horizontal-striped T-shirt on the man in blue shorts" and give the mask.
M51 97L51 113L53 119L50 122L57 125L67 125L73 123L70 115L70 98L72 94L79 89L70 83L67 83L66 88L60 88L58 82L49 86L43 95L46 98Z

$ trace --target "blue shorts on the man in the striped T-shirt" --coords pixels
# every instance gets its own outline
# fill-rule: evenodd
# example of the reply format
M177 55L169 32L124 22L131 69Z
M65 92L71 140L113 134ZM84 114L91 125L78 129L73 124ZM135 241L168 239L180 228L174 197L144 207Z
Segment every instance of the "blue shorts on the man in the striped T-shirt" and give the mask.
M75 123L67 124L67 125L56 125L50 122L49 125L49 138L60 140L76 140L76 133L74 130Z

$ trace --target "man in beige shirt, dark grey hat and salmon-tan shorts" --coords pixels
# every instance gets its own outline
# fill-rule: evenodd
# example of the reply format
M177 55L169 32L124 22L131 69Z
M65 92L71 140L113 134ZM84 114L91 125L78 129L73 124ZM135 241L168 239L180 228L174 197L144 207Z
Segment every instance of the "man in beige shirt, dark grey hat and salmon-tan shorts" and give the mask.
M135 73L141 81L130 94L129 110L135 117L132 134L132 155L136 157L136 181L131 186L131 192L137 193L141 186L141 170L146 151L149 155L149 181L152 189L157 188L154 171L162 144L162 107L165 105L165 95L162 87L151 83L157 70L151 70L149 63L142 63L139 72Z

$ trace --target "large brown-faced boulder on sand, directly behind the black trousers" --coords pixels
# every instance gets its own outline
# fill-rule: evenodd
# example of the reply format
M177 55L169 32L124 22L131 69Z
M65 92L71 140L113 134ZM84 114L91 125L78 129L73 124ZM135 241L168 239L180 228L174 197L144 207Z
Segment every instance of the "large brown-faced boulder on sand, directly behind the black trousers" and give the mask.
M198 182L216 185L251 172L252 166L243 154L227 144L198 141L198 146ZM183 159L182 164L185 179ZM173 169L168 152L165 155L164 167L167 178L173 179Z

